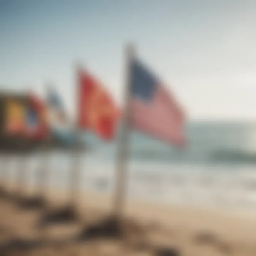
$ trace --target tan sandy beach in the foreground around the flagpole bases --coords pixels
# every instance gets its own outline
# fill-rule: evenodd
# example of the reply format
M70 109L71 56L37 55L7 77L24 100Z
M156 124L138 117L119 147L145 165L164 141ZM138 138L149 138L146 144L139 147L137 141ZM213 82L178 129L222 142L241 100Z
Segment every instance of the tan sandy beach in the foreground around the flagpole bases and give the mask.
M61 191L48 194L52 207L64 205L65 199ZM14 239L44 241L29 248L17 246L16 250L12 245L12 251L0 249L0 255L256 255L256 218L134 200L126 202L126 235L122 239L107 235L83 241L74 239L85 226L100 223L111 214L111 199L107 194L87 192L79 201L77 223L44 229L36 225L41 210L19 209L15 202L0 199L0 242L5 245L0 248L6 248Z

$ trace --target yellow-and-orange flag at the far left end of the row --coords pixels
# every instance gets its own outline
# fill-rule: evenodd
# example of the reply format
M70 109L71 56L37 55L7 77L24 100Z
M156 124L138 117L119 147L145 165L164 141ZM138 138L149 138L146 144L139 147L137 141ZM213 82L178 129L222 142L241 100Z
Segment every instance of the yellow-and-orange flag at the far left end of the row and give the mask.
M6 104L6 132L20 135L25 127L25 109L17 100L8 100Z

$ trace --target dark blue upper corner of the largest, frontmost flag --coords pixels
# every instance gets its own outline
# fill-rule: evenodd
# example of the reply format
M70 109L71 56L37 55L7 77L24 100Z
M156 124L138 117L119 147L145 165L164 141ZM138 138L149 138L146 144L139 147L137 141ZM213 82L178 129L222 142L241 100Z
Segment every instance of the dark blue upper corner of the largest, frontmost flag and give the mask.
M150 73L138 60L133 61L131 73L131 91L133 97L150 101L158 84L154 74Z

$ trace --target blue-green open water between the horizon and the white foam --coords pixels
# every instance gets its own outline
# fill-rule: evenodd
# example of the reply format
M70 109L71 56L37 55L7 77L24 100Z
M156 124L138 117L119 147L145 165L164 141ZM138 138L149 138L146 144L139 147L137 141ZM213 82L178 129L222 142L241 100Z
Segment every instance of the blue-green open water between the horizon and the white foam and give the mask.
M187 148L178 150L137 132L130 133L129 157L142 162L256 164L256 128L247 123L191 123L187 127ZM110 144L94 134L86 134L86 143L94 146L94 157L114 160L117 139ZM255 148L255 151L249 151Z

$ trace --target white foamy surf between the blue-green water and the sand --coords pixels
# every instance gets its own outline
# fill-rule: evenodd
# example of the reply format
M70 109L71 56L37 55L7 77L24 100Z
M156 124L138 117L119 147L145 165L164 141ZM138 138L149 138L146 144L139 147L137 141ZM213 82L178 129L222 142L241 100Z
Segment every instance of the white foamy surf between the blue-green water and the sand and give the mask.
M12 164L18 164L18 159ZM38 169L39 159L28 160L29 182ZM67 188L72 159L55 156L50 166L49 187ZM256 212L256 174L253 165L160 164L131 161L128 196L165 204ZM113 161L84 158L81 162L82 190L111 193L116 165ZM13 170L14 173L14 170ZM34 177L34 178L33 178Z

